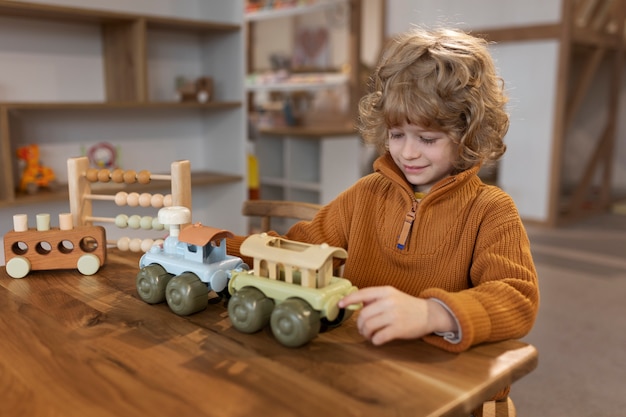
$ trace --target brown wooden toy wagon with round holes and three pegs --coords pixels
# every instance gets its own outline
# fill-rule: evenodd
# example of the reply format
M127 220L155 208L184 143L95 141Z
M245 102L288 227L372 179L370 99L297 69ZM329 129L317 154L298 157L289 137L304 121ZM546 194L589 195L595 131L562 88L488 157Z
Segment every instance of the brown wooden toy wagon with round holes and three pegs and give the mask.
M37 227L28 228L28 216L13 216L13 229L4 235L6 271L24 278L30 271L76 268L93 275L106 261L106 234L102 226L74 227L70 213L59 214L59 227L50 227L50 214L37 215Z

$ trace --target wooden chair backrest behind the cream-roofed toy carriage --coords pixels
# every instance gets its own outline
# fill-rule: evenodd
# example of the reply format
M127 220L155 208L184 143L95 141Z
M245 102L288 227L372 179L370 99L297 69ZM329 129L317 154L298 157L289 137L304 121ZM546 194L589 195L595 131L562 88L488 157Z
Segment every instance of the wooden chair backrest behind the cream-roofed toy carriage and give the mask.
M271 219L273 217L311 220L321 208L320 204L302 201L247 200L243 203L241 213L244 216L260 217L261 231L267 232L271 230Z

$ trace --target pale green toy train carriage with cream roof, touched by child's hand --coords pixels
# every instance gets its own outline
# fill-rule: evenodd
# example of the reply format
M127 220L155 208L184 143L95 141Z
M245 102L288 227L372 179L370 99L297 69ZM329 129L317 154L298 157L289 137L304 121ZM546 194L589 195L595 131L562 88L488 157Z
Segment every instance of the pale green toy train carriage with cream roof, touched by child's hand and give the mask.
M360 306L340 309L339 300L357 288L333 276L333 258L345 259L342 248L310 245L266 233L249 236L241 253L254 259L252 271L234 272L228 283L228 316L244 333L268 323L284 346L298 347L324 326L337 326Z

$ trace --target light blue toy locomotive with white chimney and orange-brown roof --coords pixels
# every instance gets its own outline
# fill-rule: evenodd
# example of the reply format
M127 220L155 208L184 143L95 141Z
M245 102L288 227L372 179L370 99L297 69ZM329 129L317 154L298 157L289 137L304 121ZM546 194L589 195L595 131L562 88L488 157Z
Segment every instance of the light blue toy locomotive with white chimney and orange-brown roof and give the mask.
M167 300L170 309L181 316L204 310L209 290L218 295L227 287L233 271L248 270L248 265L226 254L227 230L189 223L185 207L159 210L159 221L170 226L163 246L153 246L139 261L137 293L149 304Z

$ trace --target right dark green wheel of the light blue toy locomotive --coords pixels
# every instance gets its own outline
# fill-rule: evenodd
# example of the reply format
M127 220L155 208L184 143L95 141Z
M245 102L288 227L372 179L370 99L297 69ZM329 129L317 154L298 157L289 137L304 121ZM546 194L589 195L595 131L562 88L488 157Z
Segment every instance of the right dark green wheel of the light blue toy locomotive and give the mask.
M204 310L209 304L209 289L195 274L184 272L170 280L165 288L167 305L179 316Z

